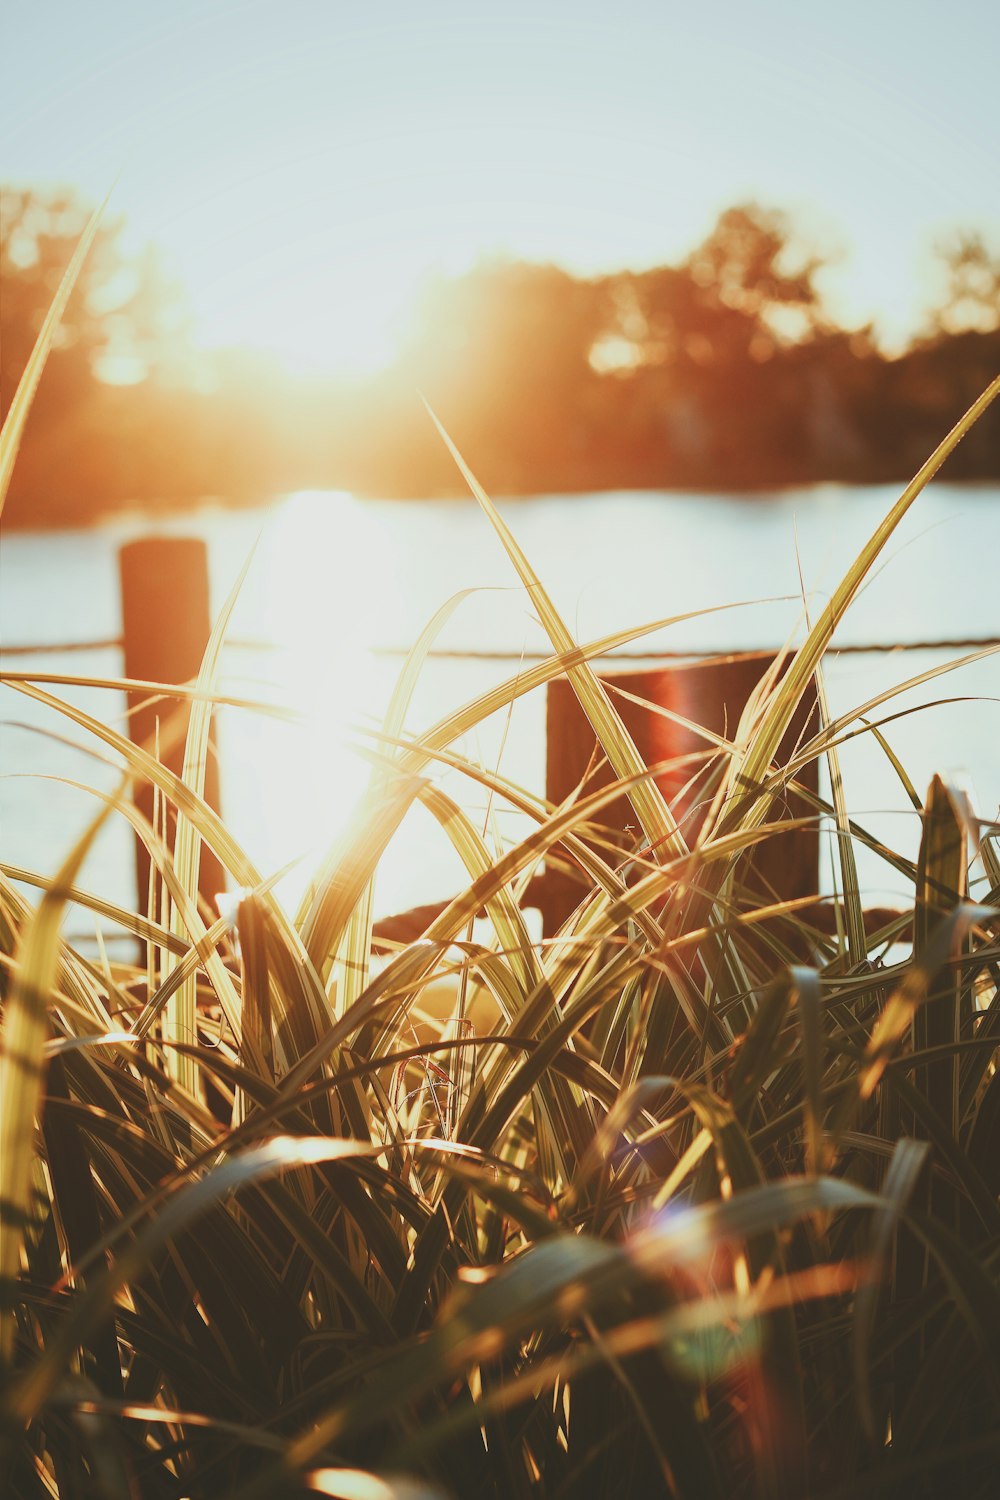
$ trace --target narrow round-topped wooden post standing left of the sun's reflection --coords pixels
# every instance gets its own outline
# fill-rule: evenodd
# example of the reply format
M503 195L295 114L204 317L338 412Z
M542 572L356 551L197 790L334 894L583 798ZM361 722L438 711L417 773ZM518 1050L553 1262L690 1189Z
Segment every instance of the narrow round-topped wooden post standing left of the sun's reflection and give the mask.
M198 676L210 634L208 556L204 542L193 537L150 537L132 542L118 554L121 578L121 622L124 675L141 682L190 682ZM159 759L174 776L181 774L184 735L190 705L154 692L129 693L129 734L135 744ZM205 801L219 808L219 762L214 740L205 772ZM135 783L135 806L153 820L153 788ZM166 844L172 852L177 816L166 804ZM135 873L139 909L150 880L148 850L135 842ZM225 872L214 852L201 846L198 890L214 910L214 897L225 890Z

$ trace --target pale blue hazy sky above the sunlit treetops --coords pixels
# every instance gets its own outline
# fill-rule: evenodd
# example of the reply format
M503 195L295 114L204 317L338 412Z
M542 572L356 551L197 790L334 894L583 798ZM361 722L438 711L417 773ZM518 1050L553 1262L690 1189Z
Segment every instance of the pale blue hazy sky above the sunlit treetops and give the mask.
M0 180L162 246L205 346L391 356L427 278L679 260L792 214L831 309L900 344L961 228L1000 249L993 0L19 0Z

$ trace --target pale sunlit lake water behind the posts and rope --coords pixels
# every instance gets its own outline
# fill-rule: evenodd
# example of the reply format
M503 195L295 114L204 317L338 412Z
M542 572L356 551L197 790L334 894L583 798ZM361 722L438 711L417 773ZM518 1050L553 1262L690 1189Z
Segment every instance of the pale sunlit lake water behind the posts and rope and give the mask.
M714 606L639 644L655 651L775 648L804 632L897 498L892 486L837 484L775 495L600 494L508 501L504 516L583 642L612 630ZM0 542L0 640L7 670L121 672L115 648L72 656L22 646L108 640L121 628L117 549L136 536L174 532L208 543L213 608L225 600L255 548L223 658L223 690L301 710L298 724L225 710L219 740L223 814L265 874L295 861L283 880L297 900L309 868L343 826L367 766L351 747L379 722L400 657L435 610L459 590L436 645L453 652L510 652L510 660L426 663L408 720L424 728L489 684L510 676L522 651L544 651L529 600L486 518L463 501L358 501L303 492L265 510L115 520L73 532L13 532ZM1000 486L931 484L889 542L838 632L843 645L897 645L996 638L1000 602ZM754 603L756 600L756 603ZM637 650L636 648L636 650ZM961 652L951 652L951 656ZM937 650L828 658L834 714L949 658ZM123 724L118 693L52 688L97 717ZM958 702L940 704L942 699ZM1000 672L987 657L907 692L879 710L897 714L885 734L924 795L934 771L957 778L978 812L1000 800ZM3 858L51 873L94 812L81 786L109 788L114 771L93 758L72 724L4 688L0 723ZM72 742L67 742L72 741ZM532 790L544 788L544 699L519 700L510 718L483 726L462 748ZM871 735L843 750L852 812L880 838L913 856L918 818ZM483 816L483 794L450 772L453 795ZM501 813L502 837L523 831ZM904 882L859 850L862 880L879 903L906 900ZM82 884L132 903L130 837L109 826ZM417 810L379 876L378 904L402 909L462 884L444 834ZM825 874L829 888L829 873ZM85 914L70 927L87 939Z

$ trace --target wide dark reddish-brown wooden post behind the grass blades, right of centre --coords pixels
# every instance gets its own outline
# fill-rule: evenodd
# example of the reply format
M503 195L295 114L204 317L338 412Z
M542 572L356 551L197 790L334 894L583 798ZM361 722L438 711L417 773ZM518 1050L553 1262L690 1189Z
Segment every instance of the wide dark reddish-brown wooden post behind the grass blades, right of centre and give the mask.
M715 734L730 736L736 730L739 716L750 693L757 686L774 657L769 654L738 656L711 662L691 662L679 666L657 668L640 672L601 672L603 681L612 690L615 706L636 747L649 766L663 760L679 760L676 766L657 776L657 784L673 806L675 816L682 819L688 843L697 836L702 814L697 807L699 764L684 758L709 750L708 741L657 712L657 706L679 714ZM816 690L807 692L795 712L789 732L778 750L784 762L810 724L819 728L816 717ZM595 792L613 780L607 762L600 754L576 693L568 681L559 678L549 684L546 711L546 796L561 802L586 778L585 792ZM694 788L688 783L694 778ZM817 766L811 762L798 780L811 792L817 790ZM816 808L805 798L790 794L789 814L814 816ZM601 837L625 849L636 848L636 816L625 796L610 802L600 816ZM793 900L801 896L816 896L819 891L819 832L816 826L793 830L766 838L748 861L747 884L757 890L763 900ZM543 930L550 938L579 904L585 886L558 864L550 862L544 874L532 882L532 904L541 908Z

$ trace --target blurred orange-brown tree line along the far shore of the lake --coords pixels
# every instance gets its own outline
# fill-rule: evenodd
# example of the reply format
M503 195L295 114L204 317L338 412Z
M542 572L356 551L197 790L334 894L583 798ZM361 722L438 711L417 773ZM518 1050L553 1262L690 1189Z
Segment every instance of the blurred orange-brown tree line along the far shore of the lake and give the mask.
M72 198L3 195L3 411L84 219ZM420 393L495 494L900 480L1000 368L1000 260L982 237L954 243L940 308L889 356L873 327L831 318L823 262L786 216L750 204L676 266L585 279L504 262L441 280L364 382L234 351L205 387L183 298L154 255L123 260L120 232L102 228L49 357L10 525L301 488L462 494ZM1000 477L1000 412L949 476Z

